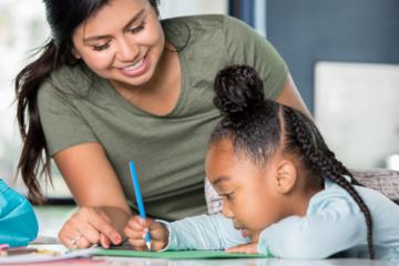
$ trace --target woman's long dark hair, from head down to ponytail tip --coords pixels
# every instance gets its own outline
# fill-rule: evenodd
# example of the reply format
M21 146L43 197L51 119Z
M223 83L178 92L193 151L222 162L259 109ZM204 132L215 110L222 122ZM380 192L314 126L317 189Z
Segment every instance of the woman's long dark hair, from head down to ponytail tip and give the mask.
M22 136L22 152L17 166L32 202L43 202L39 174L51 181L50 154L41 126L37 95L41 83L62 65L73 65L72 33L84 20L112 0L43 0L52 38L37 60L17 75L17 120ZM149 0L158 13L158 0Z

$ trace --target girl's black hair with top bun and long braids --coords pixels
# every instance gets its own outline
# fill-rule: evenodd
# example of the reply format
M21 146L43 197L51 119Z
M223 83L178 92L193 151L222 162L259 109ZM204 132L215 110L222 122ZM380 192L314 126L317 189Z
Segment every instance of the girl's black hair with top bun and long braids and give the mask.
M266 100L263 82L250 66L223 69L216 75L214 88L214 103L223 117L209 145L227 137L235 152L244 152L258 166L282 147L305 171L309 177L307 185L323 187L324 177L327 177L341 186L366 217L368 248L374 258L371 214L354 188L354 184L359 183L328 149L313 121L295 109ZM350 176L351 182L344 175Z

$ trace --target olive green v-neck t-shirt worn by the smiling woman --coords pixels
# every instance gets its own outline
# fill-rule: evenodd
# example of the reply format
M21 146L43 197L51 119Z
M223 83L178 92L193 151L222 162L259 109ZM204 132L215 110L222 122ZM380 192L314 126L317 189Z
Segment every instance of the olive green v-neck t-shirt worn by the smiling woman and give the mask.
M129 161L134 160L150 216L174 221L206 212L204 162L208 137L219 121L213 81L229 64L254 66L276 99L287 68L274 48L243 22L225 16L162 21L177 48L182 89L166 115L140 110L83 64L53 72L38 94L40 119L51 155L88 142L104 147L134 207ZM104 197L112 197L104 191Z

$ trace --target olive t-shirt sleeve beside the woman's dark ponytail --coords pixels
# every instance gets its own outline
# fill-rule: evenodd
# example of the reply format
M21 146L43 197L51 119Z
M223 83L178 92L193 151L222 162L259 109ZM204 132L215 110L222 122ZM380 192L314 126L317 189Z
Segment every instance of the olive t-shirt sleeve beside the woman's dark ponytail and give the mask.
M66 92L58 90L51 82L41 85L38 93L38 106L50 155L64 149L98 142L93 131L72 103Z

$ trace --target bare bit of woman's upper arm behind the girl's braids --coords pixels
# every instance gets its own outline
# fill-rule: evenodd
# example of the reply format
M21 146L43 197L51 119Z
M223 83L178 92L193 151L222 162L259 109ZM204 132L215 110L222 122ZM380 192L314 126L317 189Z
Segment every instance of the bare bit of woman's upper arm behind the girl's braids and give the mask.
M298 89L296 88L295 82L289 73L287 75L283 92L276 100L279 103L295 108L311 117L311 114L306 108L305 102L301 99Z

